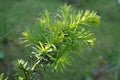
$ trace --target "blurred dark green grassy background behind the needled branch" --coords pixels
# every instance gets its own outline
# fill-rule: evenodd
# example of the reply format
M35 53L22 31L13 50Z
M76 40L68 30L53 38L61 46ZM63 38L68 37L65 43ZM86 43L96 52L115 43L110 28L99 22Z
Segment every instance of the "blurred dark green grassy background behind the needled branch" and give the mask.
M43 72L45 80L118 80L120 72L120 5L117 0L0 0L0 73L11 76L17 59L28 57L21 32L34 24L43 9L54 12L64 3L76 10L94 10L101 24L91 28L95 46L74 56L64 73ZM11 77L11 80L12 77Z

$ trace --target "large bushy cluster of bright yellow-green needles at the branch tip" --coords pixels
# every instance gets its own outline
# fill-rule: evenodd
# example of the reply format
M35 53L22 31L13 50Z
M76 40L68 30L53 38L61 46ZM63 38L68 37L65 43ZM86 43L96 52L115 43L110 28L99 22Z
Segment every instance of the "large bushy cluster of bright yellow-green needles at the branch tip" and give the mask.
M23 32L23 42L33 47L33 56L39 61L36 65L63 71L66 64L71 64L71 54L77 54L84 45L94 44L95 36L87 27L99 22L96 12L76 12L65 4L55 13L44 10L35 25Z

